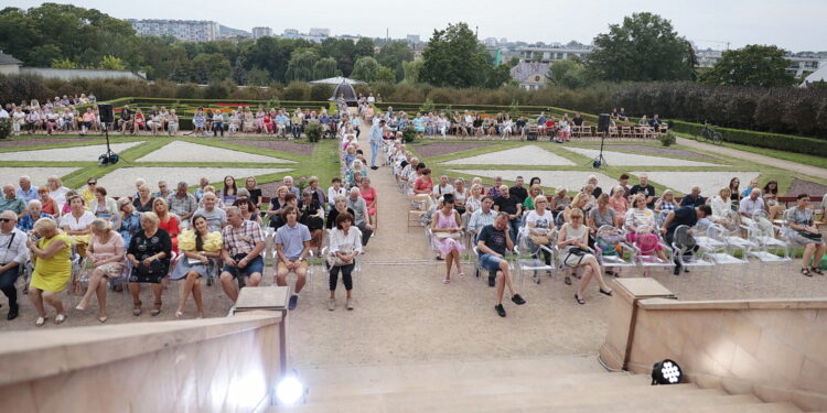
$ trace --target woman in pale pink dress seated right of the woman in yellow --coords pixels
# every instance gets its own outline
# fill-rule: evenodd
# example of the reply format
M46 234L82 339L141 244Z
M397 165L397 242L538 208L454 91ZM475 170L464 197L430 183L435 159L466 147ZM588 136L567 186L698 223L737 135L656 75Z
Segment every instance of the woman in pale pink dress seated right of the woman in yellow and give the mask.
M106 323L106 280L121 276L125 269L123 238L114 230L111 222L103 218L92 221L92 242L86 249L94 270L86 294L75 309L84 311L89 305L92 294L98 297L98 322Z

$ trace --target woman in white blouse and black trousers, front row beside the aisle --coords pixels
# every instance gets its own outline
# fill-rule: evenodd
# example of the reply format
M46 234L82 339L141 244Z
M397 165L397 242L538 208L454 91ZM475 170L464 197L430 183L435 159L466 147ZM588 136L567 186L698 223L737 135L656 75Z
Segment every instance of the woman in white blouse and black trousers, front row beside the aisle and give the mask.
M362 252L362 232L353 226L353 215L350 213L339 214L336 228L330 232L329 242L330 300L327 300L327 309L336 309L336 284L339 283L340 271L347 292L345 307L353 309L353 278L351 274L356 267L356 256Z

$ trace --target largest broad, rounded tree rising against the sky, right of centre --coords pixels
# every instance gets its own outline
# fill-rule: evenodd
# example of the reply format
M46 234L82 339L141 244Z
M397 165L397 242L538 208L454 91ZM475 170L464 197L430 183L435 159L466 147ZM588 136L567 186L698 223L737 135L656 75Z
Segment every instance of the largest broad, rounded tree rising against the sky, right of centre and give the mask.
M668 20L634 13L609 33L594 37L587 67L605 80L688 80L695 76L694 52Z

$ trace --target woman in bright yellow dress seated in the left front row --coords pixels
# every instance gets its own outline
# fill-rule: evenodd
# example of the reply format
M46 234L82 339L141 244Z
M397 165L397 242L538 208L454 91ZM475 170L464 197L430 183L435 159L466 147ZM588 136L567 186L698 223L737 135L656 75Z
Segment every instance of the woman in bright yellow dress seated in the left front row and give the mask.
M26 246L32 251L34 272L29 285L29 298L37 309L35 326L46 323L46 309L43 302L49 303L57 312L55 324L66 320L66 309L57 293L66 289L72 276L72 242L68 236L57 229L54 220L41 218L34 222L33 231L41 237L36 242L30 239Z

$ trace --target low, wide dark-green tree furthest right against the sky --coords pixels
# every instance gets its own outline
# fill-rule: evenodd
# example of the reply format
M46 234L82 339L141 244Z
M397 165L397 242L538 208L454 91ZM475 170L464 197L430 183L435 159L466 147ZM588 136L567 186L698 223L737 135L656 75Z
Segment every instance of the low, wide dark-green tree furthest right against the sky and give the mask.
M735 51L726 51L700 80L710 85L729 86L791 86L795 77L786 73L790 61L784 50L776 46L751 44Z

